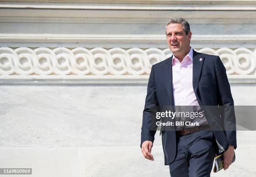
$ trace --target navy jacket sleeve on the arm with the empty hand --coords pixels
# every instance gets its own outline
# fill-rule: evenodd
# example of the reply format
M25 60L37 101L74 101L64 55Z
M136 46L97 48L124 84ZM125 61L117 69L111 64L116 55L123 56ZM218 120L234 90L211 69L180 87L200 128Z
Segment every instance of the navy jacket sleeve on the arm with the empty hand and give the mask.
M141 144L149 140L151 142L154 142L154 136L156 134L156 130L151 129L151 125L153 119L152 119L152 113L151 107L152 106L158 106L158 99L156 96L156 86L155 86L155 80L154 80L154 66L151 68L151 72L148 79L148 88L147 88L147 95L146 95L146 101L145 101L145 107L143 110L143 120L142 120L142 127L141 127Z

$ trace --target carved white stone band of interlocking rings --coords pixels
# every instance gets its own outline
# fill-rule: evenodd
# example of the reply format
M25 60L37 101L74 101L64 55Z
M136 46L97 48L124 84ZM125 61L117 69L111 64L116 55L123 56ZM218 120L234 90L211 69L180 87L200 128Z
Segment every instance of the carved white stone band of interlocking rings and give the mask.
M228 77L239 81L256 78L256 50L248 48L196 49L220 56ZM38 79L69 81L112 80L113 82L147 80L154 63L172 55L168 48L0 48L2 83ZM96 81L96 83L97 83ZM62 81L63 82L63 81ZM136 82L136 81L135 81Z

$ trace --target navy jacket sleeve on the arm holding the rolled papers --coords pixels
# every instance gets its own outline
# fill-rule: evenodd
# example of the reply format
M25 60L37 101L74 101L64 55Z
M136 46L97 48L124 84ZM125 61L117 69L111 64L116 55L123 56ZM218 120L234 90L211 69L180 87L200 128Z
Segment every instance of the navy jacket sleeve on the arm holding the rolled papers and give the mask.
M215 72L218 83L218 105L221 110L220 115L223 120L228 143L236 148L236 116L234 111L234 101L231 95L226 69L219 56L217 56L215 62Z

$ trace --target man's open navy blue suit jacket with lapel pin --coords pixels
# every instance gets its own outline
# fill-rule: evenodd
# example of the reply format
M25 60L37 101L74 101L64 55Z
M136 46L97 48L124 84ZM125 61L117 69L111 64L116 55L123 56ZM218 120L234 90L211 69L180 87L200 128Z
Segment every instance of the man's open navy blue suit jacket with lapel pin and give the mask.
M202 58L201 61L200 58ZM202 106L213 107L206 110L204 114L218 143L224 150L227 150L229 145L236 148L234 103L226 70L220 57L193 51L192 83L201 108ZM146 140L154 142L156 131L151 129L152 106L174 106L172 57L156 63L151 68L143 110L141 144ZM224 108L220 109L218 106L224 106ZM164 163L168 165L174 161L176 154L175 131L161 130L160 134L162 134Z

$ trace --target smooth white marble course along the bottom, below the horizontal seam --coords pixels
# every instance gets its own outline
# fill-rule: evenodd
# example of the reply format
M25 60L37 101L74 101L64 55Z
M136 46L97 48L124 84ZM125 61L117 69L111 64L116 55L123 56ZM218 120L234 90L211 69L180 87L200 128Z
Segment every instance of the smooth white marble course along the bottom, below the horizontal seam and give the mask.
M212 177L254 177L255 146L236 150L236 162ZM161 146L154 146L154 162L146 160L139 147L0 148L0 166L31 167L35 177L169 177ZM106 163L108 162L108 163ZM63 170L65 169L65 170ZM28 175L29 176L29 175Z

